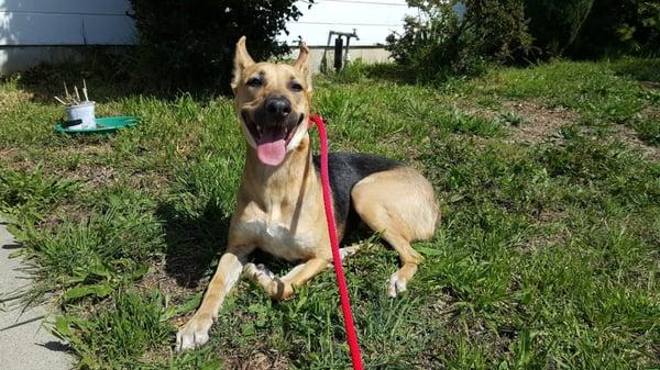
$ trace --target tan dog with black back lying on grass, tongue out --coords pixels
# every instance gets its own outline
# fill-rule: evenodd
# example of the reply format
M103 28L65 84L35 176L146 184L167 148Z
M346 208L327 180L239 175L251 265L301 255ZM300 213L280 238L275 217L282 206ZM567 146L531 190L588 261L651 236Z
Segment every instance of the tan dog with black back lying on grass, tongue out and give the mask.
M312 97L309 48L300 45L293 65L255 63L237 43L231 87L246 142L245 167L229 226L226 253L193 318L177 333L177 350L204 345L226 295L243 272L276 300L328 268L332 260L319 160L308 135ZM440 221L433 188L417 170L366 154L331 153L330 186L340 239L354 221L382 232L399 255L387 292L396 296L422 257L410 246L429 239ZM297 261L283 277L248 262L261 249ZM343 248L342 256L354 253Z

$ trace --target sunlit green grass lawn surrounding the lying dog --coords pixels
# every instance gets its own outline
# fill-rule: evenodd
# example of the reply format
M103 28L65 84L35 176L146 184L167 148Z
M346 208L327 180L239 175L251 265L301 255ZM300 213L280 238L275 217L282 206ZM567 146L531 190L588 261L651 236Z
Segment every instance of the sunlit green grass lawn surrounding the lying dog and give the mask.
M345 273L366 367L660 367L660 60L553 61L438 87L376 71L316 79L331 148L422 170L443 222L415 245L426 261L395 300L396 254L351 235L364 244ZM56 304L52 328L80 368L348 368L331 270L285 302L242 280L209 344L173 351L235 203L244 144L231 100L87 76L98 115L142 122L57 135L52 96L79 76L0 83L0 212L37 279L11 294Z

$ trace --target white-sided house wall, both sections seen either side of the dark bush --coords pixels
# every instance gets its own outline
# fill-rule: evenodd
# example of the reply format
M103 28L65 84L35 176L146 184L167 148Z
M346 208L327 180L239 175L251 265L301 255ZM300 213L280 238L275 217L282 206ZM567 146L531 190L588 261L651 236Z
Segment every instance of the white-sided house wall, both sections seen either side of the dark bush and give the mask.
M289 34L279 40L295 44L304 36L318 64L329 31L356 30L359 46L352 58L383 61L380 46L393 31L400 31L410 10L405 0L317 0L297 5L304 15L289 22ZM40 61L75 57L86 45L125 46L135 42L128 0L0 0L0 71L26 69Z

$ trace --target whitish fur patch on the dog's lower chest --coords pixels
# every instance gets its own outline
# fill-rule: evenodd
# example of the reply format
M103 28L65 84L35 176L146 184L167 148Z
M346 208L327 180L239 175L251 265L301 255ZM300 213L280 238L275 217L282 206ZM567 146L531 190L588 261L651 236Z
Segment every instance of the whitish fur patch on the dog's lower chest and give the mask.
M296 227L297 224L277 212L251 212L238 226L260 249L287 260L298 260L307 258L318 240L312 233Z

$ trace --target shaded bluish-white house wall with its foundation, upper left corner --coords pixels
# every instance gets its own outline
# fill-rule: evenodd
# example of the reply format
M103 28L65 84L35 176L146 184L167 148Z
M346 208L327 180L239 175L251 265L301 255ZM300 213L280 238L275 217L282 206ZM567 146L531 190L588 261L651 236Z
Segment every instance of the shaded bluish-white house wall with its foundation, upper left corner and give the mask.
M130 45L127 0L0 0L0 71L72 58L84 45Z

